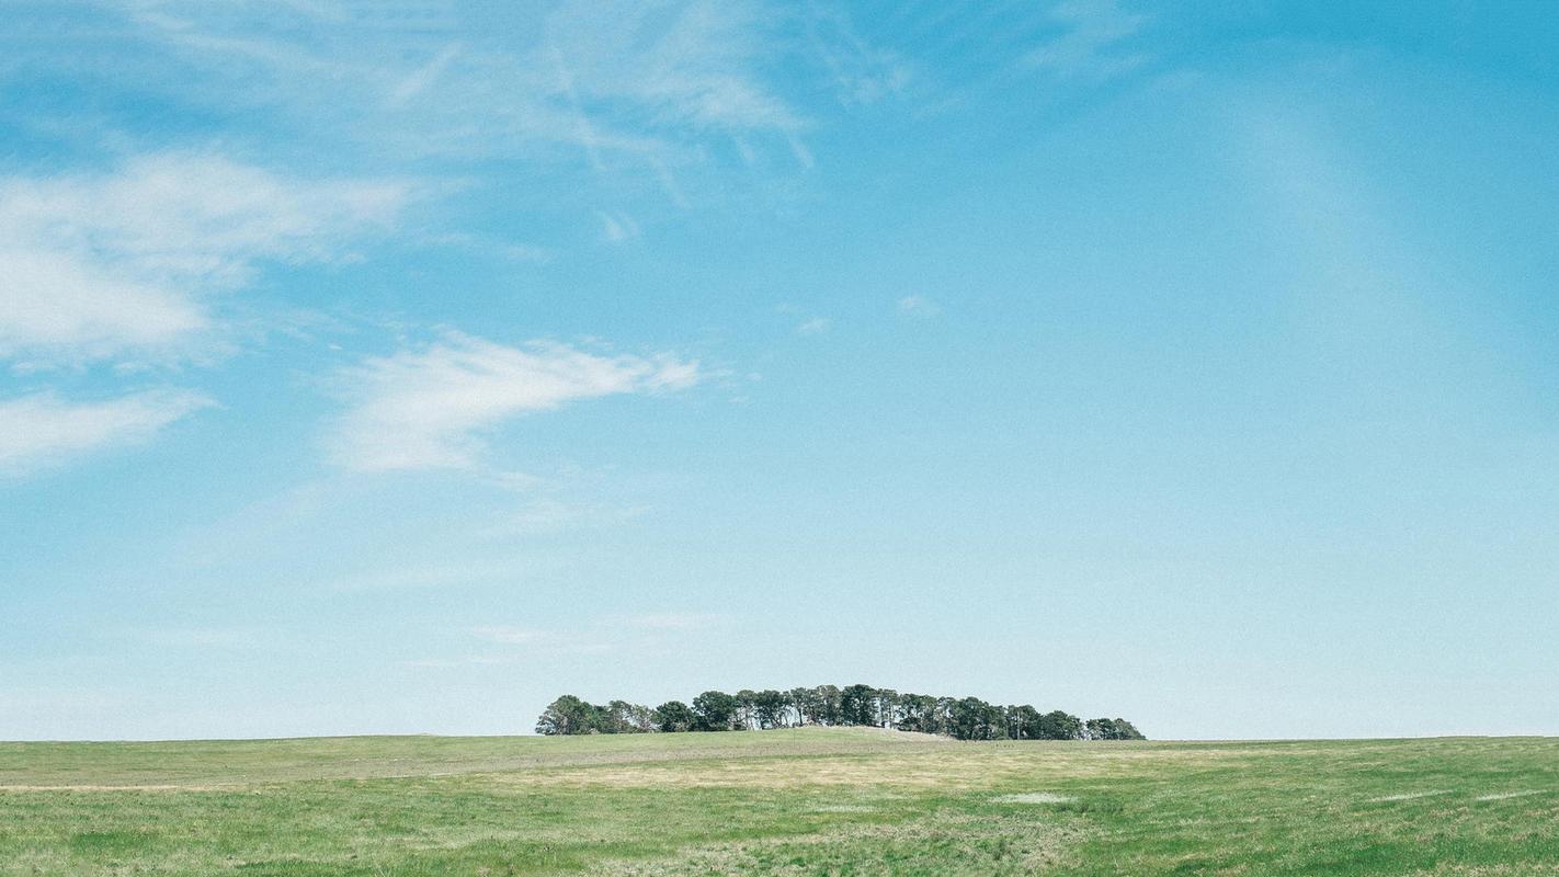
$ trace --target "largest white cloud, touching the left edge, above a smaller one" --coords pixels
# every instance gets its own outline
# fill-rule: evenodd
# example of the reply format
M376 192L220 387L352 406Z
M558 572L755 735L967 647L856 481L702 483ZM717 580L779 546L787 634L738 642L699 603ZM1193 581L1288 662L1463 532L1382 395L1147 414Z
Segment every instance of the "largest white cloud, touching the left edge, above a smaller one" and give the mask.
M176 350L212 329L209 293L243 285L260 260L334 259L349 235L388 226L407 195L189 153L0 179L0 355Z

